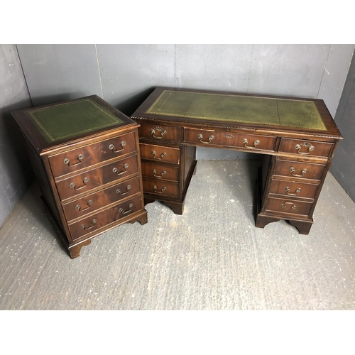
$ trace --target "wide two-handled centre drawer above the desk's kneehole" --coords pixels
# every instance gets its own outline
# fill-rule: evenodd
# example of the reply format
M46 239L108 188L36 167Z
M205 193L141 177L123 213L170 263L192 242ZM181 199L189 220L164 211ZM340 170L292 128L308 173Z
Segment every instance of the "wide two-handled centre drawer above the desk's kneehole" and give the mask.
M224 148L250 148L252 150L274 151L276 137L254 134L215 132L201 129L185 129L184 141L199 146L222 146Z

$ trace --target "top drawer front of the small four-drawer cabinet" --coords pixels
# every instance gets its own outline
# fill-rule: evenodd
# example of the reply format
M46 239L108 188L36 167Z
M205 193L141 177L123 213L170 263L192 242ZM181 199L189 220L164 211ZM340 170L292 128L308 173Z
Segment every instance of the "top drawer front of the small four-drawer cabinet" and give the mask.
M117 158L136 151L134 133L127 133L107 141L92 143L89 146L76 148L72 151L52 155L49 158L53 176L58 178L73 171L87 168L104 160Z

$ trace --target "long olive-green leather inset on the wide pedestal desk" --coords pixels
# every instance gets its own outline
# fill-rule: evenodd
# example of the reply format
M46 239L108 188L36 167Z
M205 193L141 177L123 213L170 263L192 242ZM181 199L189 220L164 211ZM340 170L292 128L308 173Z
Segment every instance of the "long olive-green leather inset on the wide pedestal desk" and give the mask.
M146 114L327 131L312 101L164 90Z

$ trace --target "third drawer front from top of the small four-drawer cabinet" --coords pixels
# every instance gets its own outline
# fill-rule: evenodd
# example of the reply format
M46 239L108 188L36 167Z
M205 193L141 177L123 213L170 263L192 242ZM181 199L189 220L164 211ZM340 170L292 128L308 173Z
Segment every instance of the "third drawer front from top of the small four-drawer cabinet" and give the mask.
M135 195L139 192L139 178L126 180L107 189L95 192L94 194L82 197L68 204L64 204L65 217L67 221L83 217L85 214L107 206L126 197Z

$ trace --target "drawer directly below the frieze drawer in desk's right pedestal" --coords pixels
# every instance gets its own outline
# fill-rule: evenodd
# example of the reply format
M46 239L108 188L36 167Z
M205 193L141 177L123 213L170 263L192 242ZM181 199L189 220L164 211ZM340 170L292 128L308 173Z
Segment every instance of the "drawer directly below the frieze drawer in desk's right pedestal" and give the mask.
M325 165L322 164L303 163L292 160L277 160L274 175L319 181L322 178L324 168Z

